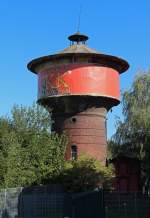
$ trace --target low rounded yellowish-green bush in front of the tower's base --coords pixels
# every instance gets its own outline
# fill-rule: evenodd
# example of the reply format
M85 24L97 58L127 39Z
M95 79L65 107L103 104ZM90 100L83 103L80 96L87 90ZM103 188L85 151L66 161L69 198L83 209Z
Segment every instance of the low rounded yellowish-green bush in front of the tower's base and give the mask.
M90 191L97 187L111 188L114 178L112 166L105 167L92 157L81 156L75 161L66 161L64 171L57 178L68 192Z

